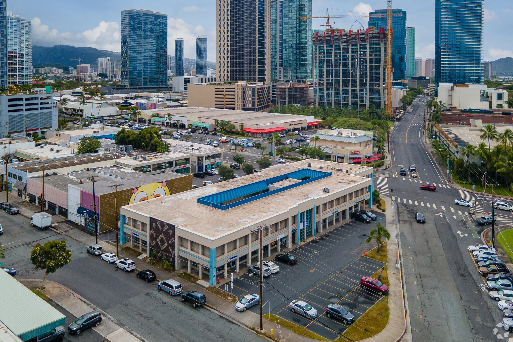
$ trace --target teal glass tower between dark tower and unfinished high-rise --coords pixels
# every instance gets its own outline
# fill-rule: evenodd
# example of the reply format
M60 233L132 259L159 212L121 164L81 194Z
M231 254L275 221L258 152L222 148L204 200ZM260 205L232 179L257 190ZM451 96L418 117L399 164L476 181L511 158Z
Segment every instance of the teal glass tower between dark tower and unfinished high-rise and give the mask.
M311 0L271 0L271 79L306 83L312 71Z

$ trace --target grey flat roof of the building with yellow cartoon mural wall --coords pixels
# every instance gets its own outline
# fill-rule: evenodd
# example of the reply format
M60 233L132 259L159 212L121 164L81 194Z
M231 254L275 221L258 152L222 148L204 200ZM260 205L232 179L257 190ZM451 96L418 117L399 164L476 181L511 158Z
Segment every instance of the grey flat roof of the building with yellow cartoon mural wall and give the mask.
M102 166L94 168L94 170L96 171L80 170L67 174L48 176L45 177L45 186L48 185L67 193L68 184L71 184L92 193L92 182L87 179L87 177L94 176L94 179L97 180L97 183L94 185L94 192L96 195L103 195L114 192L114 188L109 188L111 185L123 184L123 188L121 189L129 189L184 176L183 174L176 172L163 172L151 175L149 173L137 172L117 165ZM123 179L121 179L121 177L123 177ZM31 177L30 179L35 180L38 183L43 183L42 177ZM84 183L80 183L81 179L84 179ZM120 188L118 190L120 190Z

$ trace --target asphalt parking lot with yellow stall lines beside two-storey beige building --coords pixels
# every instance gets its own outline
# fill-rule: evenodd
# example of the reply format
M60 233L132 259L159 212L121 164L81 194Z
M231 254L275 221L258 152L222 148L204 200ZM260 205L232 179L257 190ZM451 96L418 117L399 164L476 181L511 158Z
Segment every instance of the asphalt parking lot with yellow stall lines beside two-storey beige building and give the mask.
M362 256L364 251L376 247L374 242L367 245L365 239L377 222L384 225L384 217L378 216L370 224L351 221L291 251L298 259L297 264L289 266L277 262L280 271L264 278L264 314L278 315L325 338L336 339L348 325L326 317L325 309L329 304L344 306L357 319L381 297L360 287L363 276L370 276L384 266ZM241 269L244 271L247 270ZM258 280L258 276L248 273L235 278L233 294L239 298L248 293L259 294ZM308 319L292 313L289 303L295 299L310 304L318 311L318 317ZM260 306L249 310L259 313Z

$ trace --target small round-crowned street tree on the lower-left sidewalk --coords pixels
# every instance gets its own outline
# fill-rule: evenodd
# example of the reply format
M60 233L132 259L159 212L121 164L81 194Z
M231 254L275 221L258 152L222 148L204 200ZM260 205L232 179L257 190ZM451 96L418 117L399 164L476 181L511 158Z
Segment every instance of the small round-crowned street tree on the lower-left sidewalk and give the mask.
M46 277L64 267L71 260L71 251L66 249L65 240L49 241L43 246L36 244L30 252L30 261L35 270L45 270L45 277L41 283L41 290L44 289Z

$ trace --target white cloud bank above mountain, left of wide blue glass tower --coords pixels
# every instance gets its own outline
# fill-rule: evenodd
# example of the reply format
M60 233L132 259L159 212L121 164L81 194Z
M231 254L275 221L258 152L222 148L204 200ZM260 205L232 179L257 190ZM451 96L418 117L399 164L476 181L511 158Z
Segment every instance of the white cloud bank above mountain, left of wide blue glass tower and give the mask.
M48 25L41 23L41 19L32 19L32 44L40 46L72 45L87 46L101 50L119 52L120 25L117 22L100 22L93 29L82 33L59 32L56 29L50 30Z

